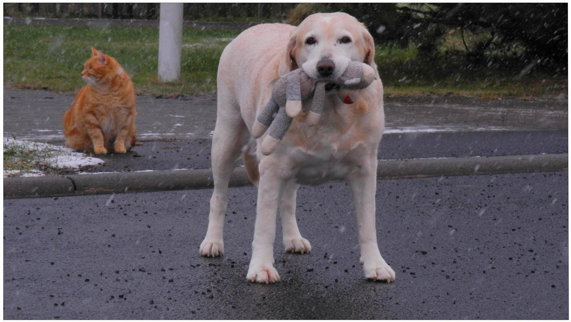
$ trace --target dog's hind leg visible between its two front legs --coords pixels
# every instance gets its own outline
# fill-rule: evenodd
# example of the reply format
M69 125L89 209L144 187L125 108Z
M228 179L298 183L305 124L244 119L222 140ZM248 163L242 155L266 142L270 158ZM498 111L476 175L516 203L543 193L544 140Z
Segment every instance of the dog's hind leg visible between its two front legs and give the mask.
M291 179L286 184L282 200L280 201L280 217L282 218L282 233L284 248L287 252L299 252L301 254L311 251L309 241L299 233L295 220L295 198L299 184Z

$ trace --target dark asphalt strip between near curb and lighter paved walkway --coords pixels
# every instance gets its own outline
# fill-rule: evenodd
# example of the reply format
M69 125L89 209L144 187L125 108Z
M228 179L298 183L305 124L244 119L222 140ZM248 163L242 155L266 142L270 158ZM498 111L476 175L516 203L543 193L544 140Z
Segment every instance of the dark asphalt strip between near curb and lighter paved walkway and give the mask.
M90 166L82 172L211 168L211 139L146 139L140 143L143 145L136 146L127 154L98 156L106 163ZM395 160L541 153L568 153L568 131L386 133L383 134L377 157L379 160Z

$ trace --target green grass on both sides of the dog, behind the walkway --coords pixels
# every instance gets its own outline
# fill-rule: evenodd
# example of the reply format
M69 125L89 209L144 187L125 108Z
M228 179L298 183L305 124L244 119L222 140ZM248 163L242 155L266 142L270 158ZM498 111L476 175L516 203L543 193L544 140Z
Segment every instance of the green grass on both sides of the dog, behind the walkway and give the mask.
M4 82L23 88L74 92L85 83L79 74L91 47L116 58L139 94L205 95L216 92L216 70L224 46L240 32L183 29L181 80L158 83L158 28L88 26L4 26ZM482 35L465 35L470 48ZM451 34L437 58L418 56L416 47L377 46L375 62L385 96L553 97L568 91L567 71L559 76L533 72L508 54L484 64L464 58L464 44ZM557 71L556 71L557 72Z

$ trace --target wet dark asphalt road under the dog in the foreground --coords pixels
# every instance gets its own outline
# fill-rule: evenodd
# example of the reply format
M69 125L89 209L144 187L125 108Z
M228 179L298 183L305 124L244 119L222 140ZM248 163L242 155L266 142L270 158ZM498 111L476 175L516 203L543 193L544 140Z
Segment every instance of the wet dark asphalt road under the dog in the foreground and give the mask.
M222 258L198 255L211 190L4 201L5 319L568 319L568 172L379 181L394 283L363 278L344 183L303 187L311 254L245 280L255 188L231 188ZM278 231L280 231L278 223Z

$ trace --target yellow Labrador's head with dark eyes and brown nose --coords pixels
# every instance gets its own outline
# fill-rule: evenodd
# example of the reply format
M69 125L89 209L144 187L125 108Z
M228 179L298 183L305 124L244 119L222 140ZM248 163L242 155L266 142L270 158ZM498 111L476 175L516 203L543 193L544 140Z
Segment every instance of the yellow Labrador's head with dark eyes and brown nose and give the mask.
M362 23L345 13L312 14L293 31L287 46L287 68L303 67L314 79L336 79L351 61L375 68L375 44Z

